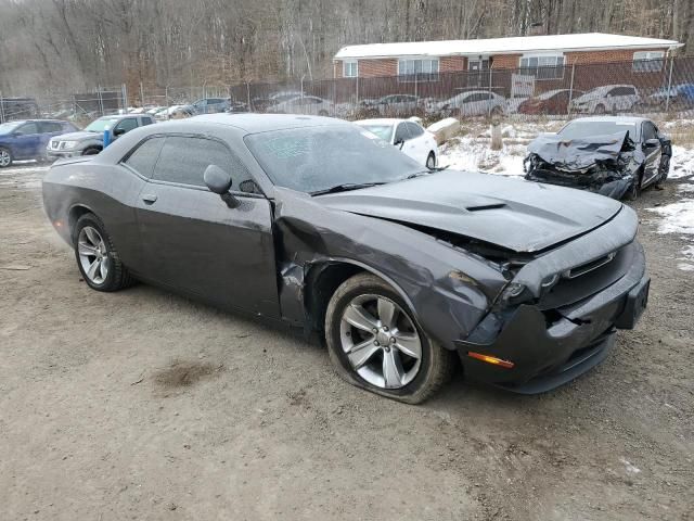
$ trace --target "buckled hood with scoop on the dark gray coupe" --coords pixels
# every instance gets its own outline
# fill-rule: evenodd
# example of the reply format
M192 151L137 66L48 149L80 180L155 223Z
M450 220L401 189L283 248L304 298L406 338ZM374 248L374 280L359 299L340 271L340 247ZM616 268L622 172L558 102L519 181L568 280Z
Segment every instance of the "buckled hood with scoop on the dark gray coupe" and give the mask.
M614 217L621 203L577 190L445 170L316 198L327 207L537 252Z

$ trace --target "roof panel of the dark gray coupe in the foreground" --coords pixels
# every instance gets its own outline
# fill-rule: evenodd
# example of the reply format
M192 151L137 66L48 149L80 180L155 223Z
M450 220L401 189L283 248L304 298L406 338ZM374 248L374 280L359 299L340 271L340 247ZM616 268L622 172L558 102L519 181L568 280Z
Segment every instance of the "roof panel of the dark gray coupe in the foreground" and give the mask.
M327 125L350 125L349 122L335 117L305 116L293 114L203 114L179 120L179 125L187 123L211 123L245 130L248 134L284 130L288 128L324 127Z

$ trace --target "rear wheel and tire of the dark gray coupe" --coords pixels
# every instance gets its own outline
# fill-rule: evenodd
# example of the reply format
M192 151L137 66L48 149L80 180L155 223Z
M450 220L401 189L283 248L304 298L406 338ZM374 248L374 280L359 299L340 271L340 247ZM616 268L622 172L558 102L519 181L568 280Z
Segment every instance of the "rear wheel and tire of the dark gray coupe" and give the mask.
M91 289L111 292L132 285L132 277L120 262L103 223L94 214L85 214L77 219L73 244L77 267Z

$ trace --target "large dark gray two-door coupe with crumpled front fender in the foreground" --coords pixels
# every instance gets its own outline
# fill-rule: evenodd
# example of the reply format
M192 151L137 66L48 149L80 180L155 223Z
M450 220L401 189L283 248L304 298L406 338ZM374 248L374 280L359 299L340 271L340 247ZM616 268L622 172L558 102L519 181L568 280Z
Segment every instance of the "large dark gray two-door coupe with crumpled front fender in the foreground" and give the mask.
M138 128L43 180L85 281L134 279L320 333L338 372L419 403L454 367L520 393L601 361L645 307L637 215L429 170L347 122L208 115Z

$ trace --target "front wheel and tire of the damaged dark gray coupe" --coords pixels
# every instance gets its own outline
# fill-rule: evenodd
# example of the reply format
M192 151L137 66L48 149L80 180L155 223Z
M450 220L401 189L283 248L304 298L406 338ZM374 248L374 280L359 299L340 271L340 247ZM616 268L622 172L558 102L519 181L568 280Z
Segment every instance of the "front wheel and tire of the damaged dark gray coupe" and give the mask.
M400 295L371 274L337 288L325 314L325 340L343 379L407 404L432 396L454 367L453 353L426 336Z

